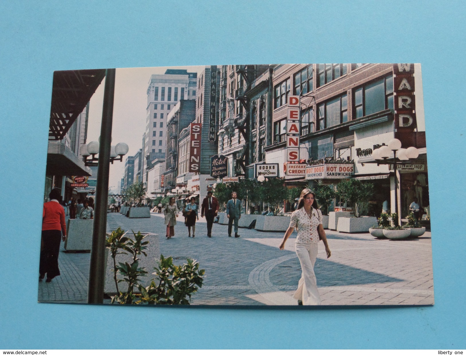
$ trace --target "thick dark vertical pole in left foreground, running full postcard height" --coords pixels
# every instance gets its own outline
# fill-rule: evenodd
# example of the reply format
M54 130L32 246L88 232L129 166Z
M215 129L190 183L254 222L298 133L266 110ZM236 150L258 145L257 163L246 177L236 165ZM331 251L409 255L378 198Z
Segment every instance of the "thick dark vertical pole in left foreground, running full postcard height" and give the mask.
M97 168L94 231L89 266L88 303L103 303L105 283L105 233L107 231L107 198L109 193L110 142L112 135L115 69L105 71L102 125L100 128L99 165Z

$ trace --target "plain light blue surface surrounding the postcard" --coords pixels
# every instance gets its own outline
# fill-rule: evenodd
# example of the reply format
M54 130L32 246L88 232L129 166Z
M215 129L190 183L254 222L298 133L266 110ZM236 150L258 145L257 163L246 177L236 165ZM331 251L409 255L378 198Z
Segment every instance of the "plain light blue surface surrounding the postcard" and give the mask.
M463 1L0 3L0 348L466 348ZM420 62L435 306L38 304L54 70Z

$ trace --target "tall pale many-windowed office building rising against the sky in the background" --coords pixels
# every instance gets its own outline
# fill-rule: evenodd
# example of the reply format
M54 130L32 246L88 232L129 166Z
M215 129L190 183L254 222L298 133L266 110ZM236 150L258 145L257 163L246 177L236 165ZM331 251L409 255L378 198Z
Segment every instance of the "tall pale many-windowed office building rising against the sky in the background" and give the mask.
M167 69L165 74L151 75L147 88L147 116L144 139L142 179L146 182L147 166L165 153L167 115L179 100L196 99L197 73L185 69Z

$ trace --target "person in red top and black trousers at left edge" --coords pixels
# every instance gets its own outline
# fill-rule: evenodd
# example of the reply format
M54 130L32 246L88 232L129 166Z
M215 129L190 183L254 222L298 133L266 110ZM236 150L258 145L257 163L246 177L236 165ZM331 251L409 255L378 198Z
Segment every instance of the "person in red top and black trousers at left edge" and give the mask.
M52 190L48 197L50 202L44 204L42 211L41 260L39 262L39 280L47 274L45 282L50 282L55 276L60 275L58 269L60 239L63 241L66 239L65 211L59 202L60 192Z

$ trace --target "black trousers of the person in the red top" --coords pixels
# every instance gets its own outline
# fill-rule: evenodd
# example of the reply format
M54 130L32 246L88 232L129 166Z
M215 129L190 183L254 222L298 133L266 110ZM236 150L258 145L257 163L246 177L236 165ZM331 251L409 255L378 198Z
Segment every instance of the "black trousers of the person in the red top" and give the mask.
M42 231L39 273L41 275L47 274L47 277L50 279L60 275L60 270L58 269L58 253L60 252L61 240L62 231Z

